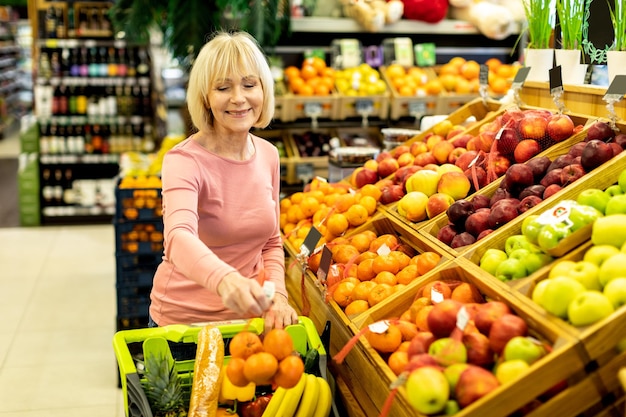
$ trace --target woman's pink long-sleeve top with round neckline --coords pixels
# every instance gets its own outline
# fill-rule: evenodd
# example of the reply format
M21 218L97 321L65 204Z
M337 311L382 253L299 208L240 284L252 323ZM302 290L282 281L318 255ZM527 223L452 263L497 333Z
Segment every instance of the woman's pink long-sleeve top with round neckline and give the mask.
M217 286L230 272L265 269L287 296L279 228L278 151L252 136L247 161L222 158L191 139L163 160L164 256L154 276L150 316L159 325L237 319Z

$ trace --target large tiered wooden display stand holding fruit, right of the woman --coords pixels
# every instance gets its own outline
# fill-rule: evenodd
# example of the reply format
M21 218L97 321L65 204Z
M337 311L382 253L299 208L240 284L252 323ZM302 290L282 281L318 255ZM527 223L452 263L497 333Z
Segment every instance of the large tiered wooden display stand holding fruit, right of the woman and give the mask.
M544 92L547 93L547 85L527 84L529 87L526 89L526 85L524 86L521 96L525 107L552 110L556 108L549 94L550 103L542 101ZM568 91L572 93L566 96L565 105L568 110L572 111L572 113L568 111L567 114L571 115L575 124L581 124L586 129L590 122L606 118L607 111L602 101L604 90L571 86L565 86L565 90L566 93ZM480 108L481 105L484 106L482 100L474 100L451 113L449 120L453 124L462 123L473 115L469 109ZM616 105L618 116L626 116L626 112L621 113L624 109L626 107L622 107L622 102ZM477 111L476 118L492 120L500 110L499 106L493 105L491 109L482 113ZM617 126L620 131L625 131L621 123ZM578 135L547 149L544 155L553 159L567 153L573 144L584 140L584 129ZM429 131L431 130L432 127ZM422 132L409 142L423 140L429 131ZM567 381L566 388L540 405L535 404L532 411L526 415L533 417L623 416L624 391L618 373L620 369L626 367L626 353L620 353L617 345L626 334L626 310L620 308L594 325L576 328L550 316L529 298L532 285L546 278L549 266L525 279L503 283L480 269L477 264L487 248L502 248L507 237L520 234L521 224L526 216L539 214L558 201L574 198L586 188L603 188L613 184L619 172L624 169L626 169L626 155L622 153L578 181L564 187L549 199L488 235L484 240L458 251L443 245L436 238L436 231L444 224L443 222L447 222L447 219L435 217L415 226L402 221L397 213L392 212L391 205L379 206L378 214L364 226L371 223L391 227L400 234L402 240L410 241L414 247L419 242L419 247L440 253L443 257L442 262L402 291L363 313L348 317L333 300L326 299L325 289L318 283L317 277L307 270L306 264L303 265L297 248L286 242L287 289L290 298L295 307L301 311L305 307L302 297L304 291L310 304L309 317L315 326L321 329L324 323L332 323L328 352L332 358L364 326L378 320L398 317L403 308L410 305L416 291L428 282L442 278L472 282L487 298L507 303L517 315L527 321L531 335L549 342L553 350L533 364L530 371L516 382L497 388L455 415L463 417L508 415L533 403L536 398L554 387L559 381ZM499 181L496 181L480 192L493 193L498 183ZM357 232L357 230L349 233ZM588 245L589 243L583 242L577 249L560 259L581 259ZM369 345L365 337L359 338L341 364L329 361L329 369L337 380L337 386L341 387L338 393L343 397L344 402L354 405L354 409L349 411L350 417L378 415L390 393L390 385L396 379L383 357ZM389 415L421 416L409 405L403 387L398 390Z

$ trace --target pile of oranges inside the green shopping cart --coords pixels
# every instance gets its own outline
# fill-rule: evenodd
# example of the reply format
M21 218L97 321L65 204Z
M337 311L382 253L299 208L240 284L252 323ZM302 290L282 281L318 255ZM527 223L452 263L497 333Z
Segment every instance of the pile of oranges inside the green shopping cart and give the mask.
M304 362L284 329L270 330L263 340L256 333L239 332L230 340L229 350L226 375L237 387L254 383L292 388L304 373Z

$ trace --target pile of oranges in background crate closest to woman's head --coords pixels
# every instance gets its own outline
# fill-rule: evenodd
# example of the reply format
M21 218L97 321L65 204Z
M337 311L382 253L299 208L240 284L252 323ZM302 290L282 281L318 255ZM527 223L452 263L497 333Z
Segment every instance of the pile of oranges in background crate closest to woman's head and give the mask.
M289 91L300 96L328 96L335 86L335 70L320 57L309 57L298 68L285 68L285 79Z

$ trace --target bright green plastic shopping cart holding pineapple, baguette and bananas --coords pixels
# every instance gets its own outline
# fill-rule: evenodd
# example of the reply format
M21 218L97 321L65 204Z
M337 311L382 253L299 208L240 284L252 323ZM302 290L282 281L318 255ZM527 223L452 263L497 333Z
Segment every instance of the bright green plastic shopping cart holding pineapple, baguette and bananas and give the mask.
M316 349L320 354L320 372L327 379L326 374L326 350L322 344L319 333L308 317L300 317L299 323L286 327L294 341L294 348L304 355L309 349ZM208 324L208 323L207 323ZM263 332L263 319L233 320L231 322L215 323L224 338L224 363L228 363L228 340L237 333L248 330L261 334ZM161 338L173 343L194 345L198 343L198 333L202 325L169 325L163 327L121 330L113 337L113 349L120 370L122 393L124 397L124 409L129 417L152 417L152 411L148 404L146 394L141 385L141 377L137 372L135 358L131 350L135 351L137 345L142 345L147 339ZM193 381L194 359L176 358L176 371L181 378L183 389L187 395L191 392Z

